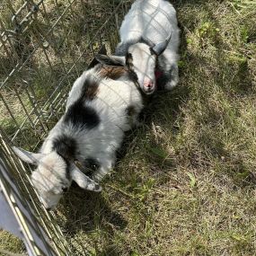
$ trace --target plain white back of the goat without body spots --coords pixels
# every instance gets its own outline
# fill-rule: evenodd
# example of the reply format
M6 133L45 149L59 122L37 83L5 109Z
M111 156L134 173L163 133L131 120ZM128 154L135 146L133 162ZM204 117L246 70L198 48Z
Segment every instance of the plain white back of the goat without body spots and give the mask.
M121 41L137 41L145 37L154 43L165 40L172 31L170 45L178 47L179 29L176 11L164 0L137 0L132 4L120 27ZM177 46L176 46L177 44Z

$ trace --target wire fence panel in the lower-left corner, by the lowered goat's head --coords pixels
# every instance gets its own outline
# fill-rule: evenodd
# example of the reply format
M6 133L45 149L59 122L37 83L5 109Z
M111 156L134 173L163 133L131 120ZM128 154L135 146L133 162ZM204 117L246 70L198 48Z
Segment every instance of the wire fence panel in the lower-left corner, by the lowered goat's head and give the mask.
M30 255L68 255L69 247L63 234L57 230L54 218L49 216L39 205L34 204L32 199L34 191L30 189L31 186L27 186L29 180L26 177L26 172L22 165L15 163L11 150L5 144L3 137L0 139L0 191L8 205L8 207L2 205L4 209L1 208L1 216L4 216L3 210L6 211L10 208L11 212L4 217L4 225L7 225L8 220L10 222L9 226L7 225L5 228L12 228L13 233L23 239ZM20 172L16 172L16 170L20 170ZM20 179L13 179L13 177L20 177ZM17 181L24 181L24 183ZM3 203L3 201L1 202ZM40 219L36 217L39 214ZM12 215L17 222L16 228L13 228ZM3 225L2 222L1 219Z

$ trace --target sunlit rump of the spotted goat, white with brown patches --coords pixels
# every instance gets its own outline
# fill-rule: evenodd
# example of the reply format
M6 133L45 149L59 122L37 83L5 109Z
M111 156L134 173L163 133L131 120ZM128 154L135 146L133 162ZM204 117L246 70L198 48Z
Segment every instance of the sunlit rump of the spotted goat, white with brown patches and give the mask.
M108 73L106 68L95 67L84 72L69 93L66 110L83 97L84 105L97 112L102 124L105 122L110 127L119 126L123 130L129 129L126 110L133 106L139 111L143 106L136 84L121 68Z

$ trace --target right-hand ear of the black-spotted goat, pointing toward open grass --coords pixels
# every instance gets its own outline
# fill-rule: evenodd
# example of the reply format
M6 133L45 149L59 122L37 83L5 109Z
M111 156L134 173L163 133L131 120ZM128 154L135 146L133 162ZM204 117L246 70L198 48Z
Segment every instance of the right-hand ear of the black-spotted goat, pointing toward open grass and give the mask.
M87 177L83 172L81 172L75 164L72 166L71 170L71 178L73 181L77 183L77 185L84 190L92 190L95 192L102 191L102 187Z

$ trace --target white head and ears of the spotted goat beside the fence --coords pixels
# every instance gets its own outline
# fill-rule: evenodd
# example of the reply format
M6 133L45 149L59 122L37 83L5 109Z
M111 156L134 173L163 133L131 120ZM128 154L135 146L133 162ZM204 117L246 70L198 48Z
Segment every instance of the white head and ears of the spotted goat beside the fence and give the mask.
M37 166L31 174L31 181L47 209L57 206L72 181L84 190L102 190L101 186L81 172L75 163L67 163L55 151L49 154L35 154L16 146L13 146L13 151L22 161Z

